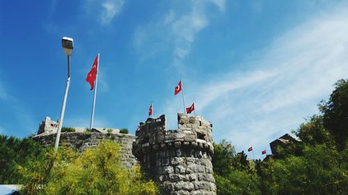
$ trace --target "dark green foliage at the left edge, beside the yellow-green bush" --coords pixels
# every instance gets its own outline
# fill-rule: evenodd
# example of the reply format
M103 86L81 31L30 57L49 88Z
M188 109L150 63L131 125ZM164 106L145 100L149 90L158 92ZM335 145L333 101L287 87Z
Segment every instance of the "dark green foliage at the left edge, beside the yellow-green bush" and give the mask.
M0 184L17 184L21 174L17 167L26 167L43 154L42 146L29 138L0 135Z

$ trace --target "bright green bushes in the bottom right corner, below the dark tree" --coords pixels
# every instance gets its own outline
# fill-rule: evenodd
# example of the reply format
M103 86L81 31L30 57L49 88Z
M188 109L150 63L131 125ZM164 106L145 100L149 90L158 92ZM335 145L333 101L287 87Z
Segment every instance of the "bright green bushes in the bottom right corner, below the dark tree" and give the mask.
M306 146L302 156L260 163L262 194L345 194L347 156L326 144Z

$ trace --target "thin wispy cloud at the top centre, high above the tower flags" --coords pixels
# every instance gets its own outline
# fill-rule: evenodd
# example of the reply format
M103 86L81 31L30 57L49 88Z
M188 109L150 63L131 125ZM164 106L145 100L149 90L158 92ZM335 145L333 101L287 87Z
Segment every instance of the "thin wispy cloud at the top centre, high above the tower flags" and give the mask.
M225 0L184 1L182 6L189 7L188 10L170 9L164 19L139 26L133 37L134 48L145 57L172 51L173 65L181 67L181 60L189 55L196 35L209 25L207 9L211 5L225 10ZM154 33L153 29L160 30Z

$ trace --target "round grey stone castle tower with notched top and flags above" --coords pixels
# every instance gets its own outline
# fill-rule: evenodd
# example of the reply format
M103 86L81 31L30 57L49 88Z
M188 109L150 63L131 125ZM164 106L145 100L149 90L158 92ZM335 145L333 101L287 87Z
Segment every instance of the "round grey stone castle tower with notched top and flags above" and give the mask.
M140 123L133 154L164 194L212 194L212 124L202 117L177 114L178 129L166 130L166 117Z

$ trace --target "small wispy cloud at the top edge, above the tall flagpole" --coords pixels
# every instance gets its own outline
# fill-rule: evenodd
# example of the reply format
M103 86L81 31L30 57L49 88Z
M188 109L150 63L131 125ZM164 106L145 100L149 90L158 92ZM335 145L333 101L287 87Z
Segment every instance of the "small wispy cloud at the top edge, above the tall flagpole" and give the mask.
M109 24L122 10L124 0L88 0L85 8L91 17L97 16L102 25Z

